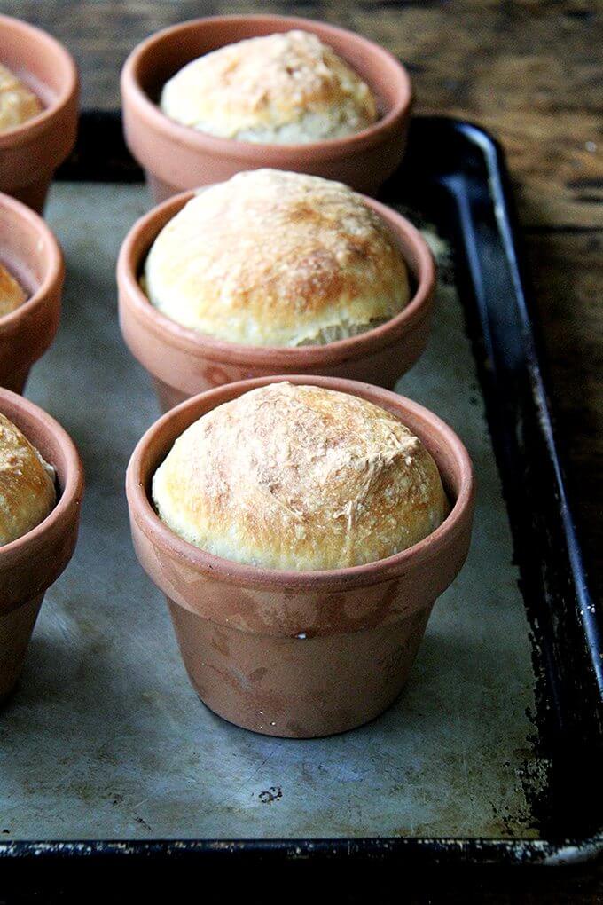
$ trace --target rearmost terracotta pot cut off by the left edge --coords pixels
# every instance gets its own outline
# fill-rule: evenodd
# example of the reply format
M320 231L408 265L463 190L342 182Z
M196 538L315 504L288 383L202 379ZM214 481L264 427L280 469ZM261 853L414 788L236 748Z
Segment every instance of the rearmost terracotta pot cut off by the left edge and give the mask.
M41 212L54 171L68 157L78 128L80 83L71 54L50 34L0 15L2 62L25 82L43 110L0 132L0 191Z

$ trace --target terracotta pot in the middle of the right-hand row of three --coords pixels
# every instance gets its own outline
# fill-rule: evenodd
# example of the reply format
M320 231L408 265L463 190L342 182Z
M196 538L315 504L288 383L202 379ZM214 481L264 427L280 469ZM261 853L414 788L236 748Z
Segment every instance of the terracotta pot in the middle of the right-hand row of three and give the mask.
M372 198L400 243L414 295L380 327L324 346L273 348L216 339L166 318L139 285L155 236L187 201L185 192L155 207L127 234L118 258L119 322L130 351L155 382L164 411L212 386L271 374L325 374L393 386L422 354L429 338L436 271L429 246L408 220Z

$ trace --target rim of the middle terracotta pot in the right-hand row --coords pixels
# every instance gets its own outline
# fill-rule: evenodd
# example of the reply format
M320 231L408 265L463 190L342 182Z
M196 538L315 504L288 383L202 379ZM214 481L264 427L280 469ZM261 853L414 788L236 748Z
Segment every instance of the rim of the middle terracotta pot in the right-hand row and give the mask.
M306 367L333 365L349 358L370 355L377 348L385 348L397 342L401 336L417 329L419 324L429 317L436 285L436 264L428 243L417 227L398 211L382 205L381 202L375 201L368 195L361 195L364 202L388 224L394 235L397 238L401 236L406 243L410 244L417 258L418 278L415 293L407 305L393 318L353 337L336 339L334 342L320 346L297 347L247 346L184 327L155 309L145 292L142 291L137 274L160 229L182 210L186 202L190 201L194 195L194 190L181 192L144 214L127 233L118 255L117 274L120 304L132 310L137 319L142 321L145 329L153 333L155 338L160 341L167 341L169 345L178 347L193 357L202 356L216 362L244 364L250 367L266 367L267 360L269 360L270 367L298 368L297 373L300 373ZM155 230L155 224L162 225ZM155 230L153 237L148 243L145 243L144 248L140 248L141 236L149 228ZM407 260L406 255L404 257ZM408 261L407 266L409 266Z

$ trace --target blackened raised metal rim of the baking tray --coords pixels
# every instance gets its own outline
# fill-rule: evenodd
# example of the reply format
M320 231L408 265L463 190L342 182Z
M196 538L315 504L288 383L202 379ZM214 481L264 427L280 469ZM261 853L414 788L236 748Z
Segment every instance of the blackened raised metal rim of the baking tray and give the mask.
M555 442L541 342L534 323L534 305L525 275L504 155L484 129L463 121L419 117L413 124L413 133L417 137L422 133L421 153L412 155L410 151L402 167L400 184L394 176L383 195L386 200L394 195L395 200L401 187L406 199L404 186L416 184L417 176L427 176L429 167L437 161L441 164L441 157L448 156L448 164L438 173L438 182L457 201L467 289L473 283L475 295L473 340L480 382L504 483L523 594L526 601L529 595L536 595L533 600L530 598L531 603L526 603L526 608L532 631L543 650L542 681L549 683L547 691L555 700L557 719L551 719L547 733L551 745L561 752L556 783L562 819L553 821L550 832L541 839L14 841L0 843L1 859L23 862L34 857L36 862L62 862L75 858L104 862L135 856L145 861L153 857L155 862L165 858L180 861L190 856L195 861L201 858L203 862L221 862L225 856L236 856L246 863L251 859L274 864L308 859L316 862L376 860L406 864L414 870L436 864L444 867L560 865L583 862L603 853L598 810L598 774L603 756L603 631L597 607L589 594ZM432 153L425 153L426 148L431 148ZM466 155L464 186L455 186L459 154ZM124 182L141 178L123 143L118 114L90 111L82 115L78 146L62 167L59 178ZM482 190L474 197L472 186L475 189L480 185ZM484 189L490 199L488 212L482 210ZM489 230L490 234L485 234L485 221L486 233ZM485 253L488 242L498 243L500 253L495 262ZM500 268L503 260L504 273ZM504 282L494 296L484 290L486 281L492 279ZM507 304L509 310L513 305L514 318L509 318L509 311L504 310ZM527 496L526 477L530 482L536 479ZM532 555L532 559L538 559L536 567L526 562L521 553L525 537L540 537L537 556ZM571 670L564 662L568 644ZM579 672L578 683L576 672ZM577 700L581 706L575 714L572 710ZM572 771L572 783L563 789L570 776L568 767ZM589 803L587 819L583 814L577 820L575 814L574 818L566 819L575 805L575 795L584 794L588 788L593 800ZM565 826L572 824L577 831L564 833Z

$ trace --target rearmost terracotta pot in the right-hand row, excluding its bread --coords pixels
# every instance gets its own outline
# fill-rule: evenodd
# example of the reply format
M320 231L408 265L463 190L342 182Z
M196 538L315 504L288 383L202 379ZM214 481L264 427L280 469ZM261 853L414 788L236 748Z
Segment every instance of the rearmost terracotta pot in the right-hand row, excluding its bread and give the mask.
M277 145L204 135L159 110L161 89L185 63L243 38L294 28L317 34L362 76L378 101L381 119L347 138ZM408 72L391 53L334 25L281 15L195 19L152 35L128 57L121 96L127 145L146 170L155 201L258 167L339 179L374 195L400 165L412 103Z

